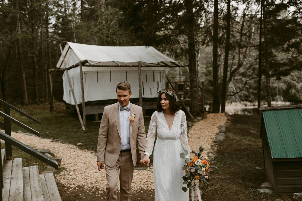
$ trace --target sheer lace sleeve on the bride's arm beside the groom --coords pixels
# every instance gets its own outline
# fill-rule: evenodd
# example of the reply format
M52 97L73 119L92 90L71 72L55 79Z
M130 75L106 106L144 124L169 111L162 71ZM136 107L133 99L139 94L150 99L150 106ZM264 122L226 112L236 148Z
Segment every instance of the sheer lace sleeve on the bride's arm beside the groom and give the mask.
M155 140L155 134L156 134L156 127L157 127L157 118L156 118L156 112L154 112L153 115L151 116L151 121L149 124L149 130L148 130L147 139L146 139L145 154L148 156L150 156L152 154L154 140Z

